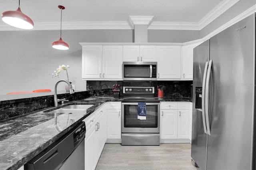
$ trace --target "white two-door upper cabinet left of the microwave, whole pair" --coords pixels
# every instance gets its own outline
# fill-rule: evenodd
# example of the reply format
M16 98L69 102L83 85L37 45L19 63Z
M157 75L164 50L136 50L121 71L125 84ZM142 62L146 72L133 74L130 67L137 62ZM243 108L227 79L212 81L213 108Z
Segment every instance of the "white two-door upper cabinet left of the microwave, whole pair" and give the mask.
M122 45L83 45L82 79L122 80Z

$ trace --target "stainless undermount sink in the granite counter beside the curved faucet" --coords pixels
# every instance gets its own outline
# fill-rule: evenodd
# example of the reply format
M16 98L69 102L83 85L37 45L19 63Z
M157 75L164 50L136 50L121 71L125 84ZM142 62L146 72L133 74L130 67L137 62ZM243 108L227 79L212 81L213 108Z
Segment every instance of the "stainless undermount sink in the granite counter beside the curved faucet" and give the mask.
M63 106L59 109L55 109L55 110L47 110L44 111L44 113L76 113L76 112L80 112L80 111L86 111L86 109L92 107L94 105L67 105L67 106Z

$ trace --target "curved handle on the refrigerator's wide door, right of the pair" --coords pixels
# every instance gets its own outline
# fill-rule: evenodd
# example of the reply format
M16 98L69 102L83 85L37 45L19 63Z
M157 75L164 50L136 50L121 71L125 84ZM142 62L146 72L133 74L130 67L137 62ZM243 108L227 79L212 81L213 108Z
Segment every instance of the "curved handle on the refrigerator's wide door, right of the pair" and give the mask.
M212 72L212 60L209 61L207 76L206 76L206 90L205 90L205 117L206 117L206 127L207 134L211 135L210 130L210 122L209 122L209 84L210 84L210 76Z

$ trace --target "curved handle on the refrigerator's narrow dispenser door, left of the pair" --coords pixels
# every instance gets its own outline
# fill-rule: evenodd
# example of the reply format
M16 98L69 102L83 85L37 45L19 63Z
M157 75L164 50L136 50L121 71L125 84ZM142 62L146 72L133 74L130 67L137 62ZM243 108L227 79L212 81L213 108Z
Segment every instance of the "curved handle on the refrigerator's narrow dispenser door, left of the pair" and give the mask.
M203 118L204 133L206 134L207 134L207 129L206 129L206 122L205 122L205 85L206 85L207 70L208 70L208 61L206 61L205 67L204 67L204 77L203 77L203 85L202 85L202 118Z

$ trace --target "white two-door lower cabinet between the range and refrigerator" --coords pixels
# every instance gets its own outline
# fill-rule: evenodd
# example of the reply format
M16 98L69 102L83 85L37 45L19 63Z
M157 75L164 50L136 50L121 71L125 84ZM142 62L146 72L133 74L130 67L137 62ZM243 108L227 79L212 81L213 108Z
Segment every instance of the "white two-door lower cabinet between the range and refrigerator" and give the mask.
M161 102L160 110L160 142L190 142L189 102Z

